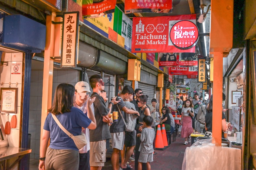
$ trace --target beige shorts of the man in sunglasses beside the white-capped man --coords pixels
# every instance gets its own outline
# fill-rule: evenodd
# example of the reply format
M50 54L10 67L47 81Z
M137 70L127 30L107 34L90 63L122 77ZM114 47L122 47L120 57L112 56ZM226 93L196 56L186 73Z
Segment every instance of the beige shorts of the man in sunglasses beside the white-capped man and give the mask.
M90 142L90 166L104 166L106 162L106 140Z

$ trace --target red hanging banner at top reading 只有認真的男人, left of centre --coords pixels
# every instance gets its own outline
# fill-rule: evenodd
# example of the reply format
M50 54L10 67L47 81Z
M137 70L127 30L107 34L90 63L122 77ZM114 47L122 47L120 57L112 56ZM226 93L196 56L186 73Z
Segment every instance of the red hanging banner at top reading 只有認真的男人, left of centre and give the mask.
M97 18L113 13L116 7L116 0L103 0L101 2L93 3L93 0L82 1L82 15L83 18L91 17Z

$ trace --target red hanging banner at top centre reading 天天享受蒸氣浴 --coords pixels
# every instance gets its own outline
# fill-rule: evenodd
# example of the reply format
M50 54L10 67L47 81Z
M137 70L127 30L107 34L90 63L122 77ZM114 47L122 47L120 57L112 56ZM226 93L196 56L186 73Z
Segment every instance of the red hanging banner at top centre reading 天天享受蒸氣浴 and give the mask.
M125 0L125 14L171 12L172 0Z

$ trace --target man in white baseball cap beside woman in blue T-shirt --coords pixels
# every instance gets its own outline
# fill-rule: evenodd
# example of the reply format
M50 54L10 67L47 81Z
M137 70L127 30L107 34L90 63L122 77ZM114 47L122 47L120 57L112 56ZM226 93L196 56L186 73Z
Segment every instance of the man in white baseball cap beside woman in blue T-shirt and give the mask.
M86 116L91 119L96 124L96 120L94 117L94 108L93 102L95 98L90 100L89 93L90 86L85 81L79 81L75 85L75 95L76 101L74 103L74 107L81 109ZM82 128L82 132L86 136L87 145L79 150L79 170L90 170L90 136L89 129Z

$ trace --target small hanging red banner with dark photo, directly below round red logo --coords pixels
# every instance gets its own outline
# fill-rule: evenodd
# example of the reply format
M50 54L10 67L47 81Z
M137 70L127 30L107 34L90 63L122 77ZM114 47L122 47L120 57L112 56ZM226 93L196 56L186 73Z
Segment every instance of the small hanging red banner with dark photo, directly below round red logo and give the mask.
M197 63L198 62L195 53L180 53L180 66L197 66Z

